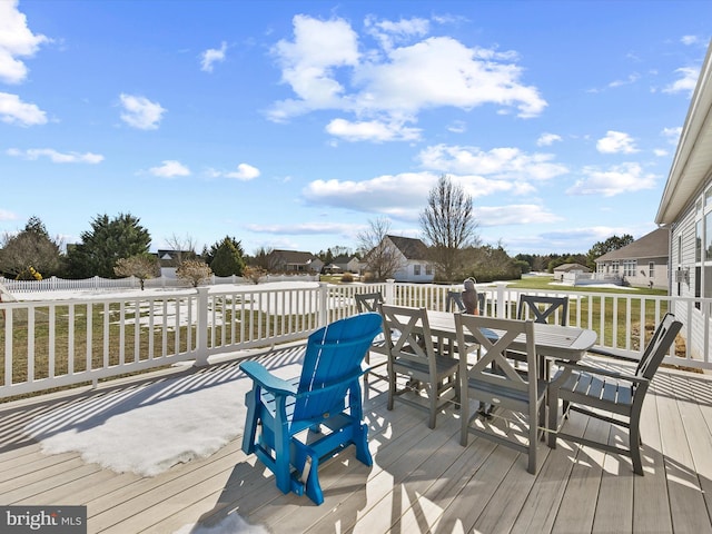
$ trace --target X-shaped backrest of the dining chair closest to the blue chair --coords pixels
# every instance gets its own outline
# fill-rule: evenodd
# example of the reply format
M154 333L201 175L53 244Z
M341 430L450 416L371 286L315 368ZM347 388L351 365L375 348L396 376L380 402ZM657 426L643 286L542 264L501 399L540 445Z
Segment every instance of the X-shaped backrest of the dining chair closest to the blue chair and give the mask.
M393 357L435 366L435 347L425 308L382 305L383 332ZM398 336L394 336L397 333ZM433 370L435 370L433 368Z

